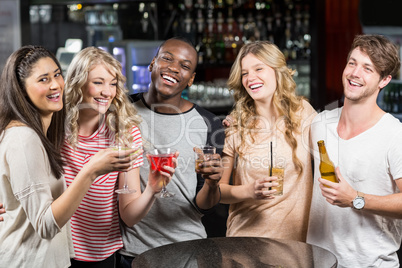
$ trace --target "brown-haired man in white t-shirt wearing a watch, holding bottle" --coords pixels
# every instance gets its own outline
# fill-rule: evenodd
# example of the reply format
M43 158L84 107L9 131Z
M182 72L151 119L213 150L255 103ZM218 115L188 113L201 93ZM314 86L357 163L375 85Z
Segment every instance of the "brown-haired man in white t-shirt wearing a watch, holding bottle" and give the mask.
M311 126L315 175L307 242L334 253L338 267L399 267L402 124L376 103L399 68L388 39L356 36L342 75L344 106L318 114ZM320 178L319 140L339 183Z

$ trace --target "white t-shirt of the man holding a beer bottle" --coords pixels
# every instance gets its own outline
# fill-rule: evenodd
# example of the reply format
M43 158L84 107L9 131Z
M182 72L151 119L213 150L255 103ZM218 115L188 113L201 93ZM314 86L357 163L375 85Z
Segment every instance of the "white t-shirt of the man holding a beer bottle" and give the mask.
M355 190L385 196L399 192L394 180L402 178L402 124L385 114L370 129L343 140L337 133L341 112L324 111L312 123L315 175L307 242L334 253L338 267L399 267L402 220L329 204L317 181L317 141L325 141L330 159Z

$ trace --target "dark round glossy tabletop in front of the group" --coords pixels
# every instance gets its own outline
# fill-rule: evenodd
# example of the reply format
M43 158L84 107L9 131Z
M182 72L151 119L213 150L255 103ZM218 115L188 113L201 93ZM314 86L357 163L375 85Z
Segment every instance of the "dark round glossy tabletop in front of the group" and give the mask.
M133 268L336 266L335 256L320 247L259 237L219 237L173 243L146 251L132 263Z

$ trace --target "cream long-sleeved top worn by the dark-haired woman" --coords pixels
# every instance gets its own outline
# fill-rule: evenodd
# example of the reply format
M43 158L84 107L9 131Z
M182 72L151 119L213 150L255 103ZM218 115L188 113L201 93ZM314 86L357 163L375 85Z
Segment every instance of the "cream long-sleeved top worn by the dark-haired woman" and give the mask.
M0 267L69 267L70 225L60 229L51 209L66 184L53 176L39 136L26 126L7 129L0 158Z

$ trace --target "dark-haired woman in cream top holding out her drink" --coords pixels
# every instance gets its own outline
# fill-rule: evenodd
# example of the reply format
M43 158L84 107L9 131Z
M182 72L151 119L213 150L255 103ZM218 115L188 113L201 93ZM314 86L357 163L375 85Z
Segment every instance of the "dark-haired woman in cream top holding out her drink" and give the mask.
M124 157L99 151L66 190L60 148L64 141L64 80L43 47L25 46L8 58L0 83L0 266L69 267L69 219L94 179L128 171Z

